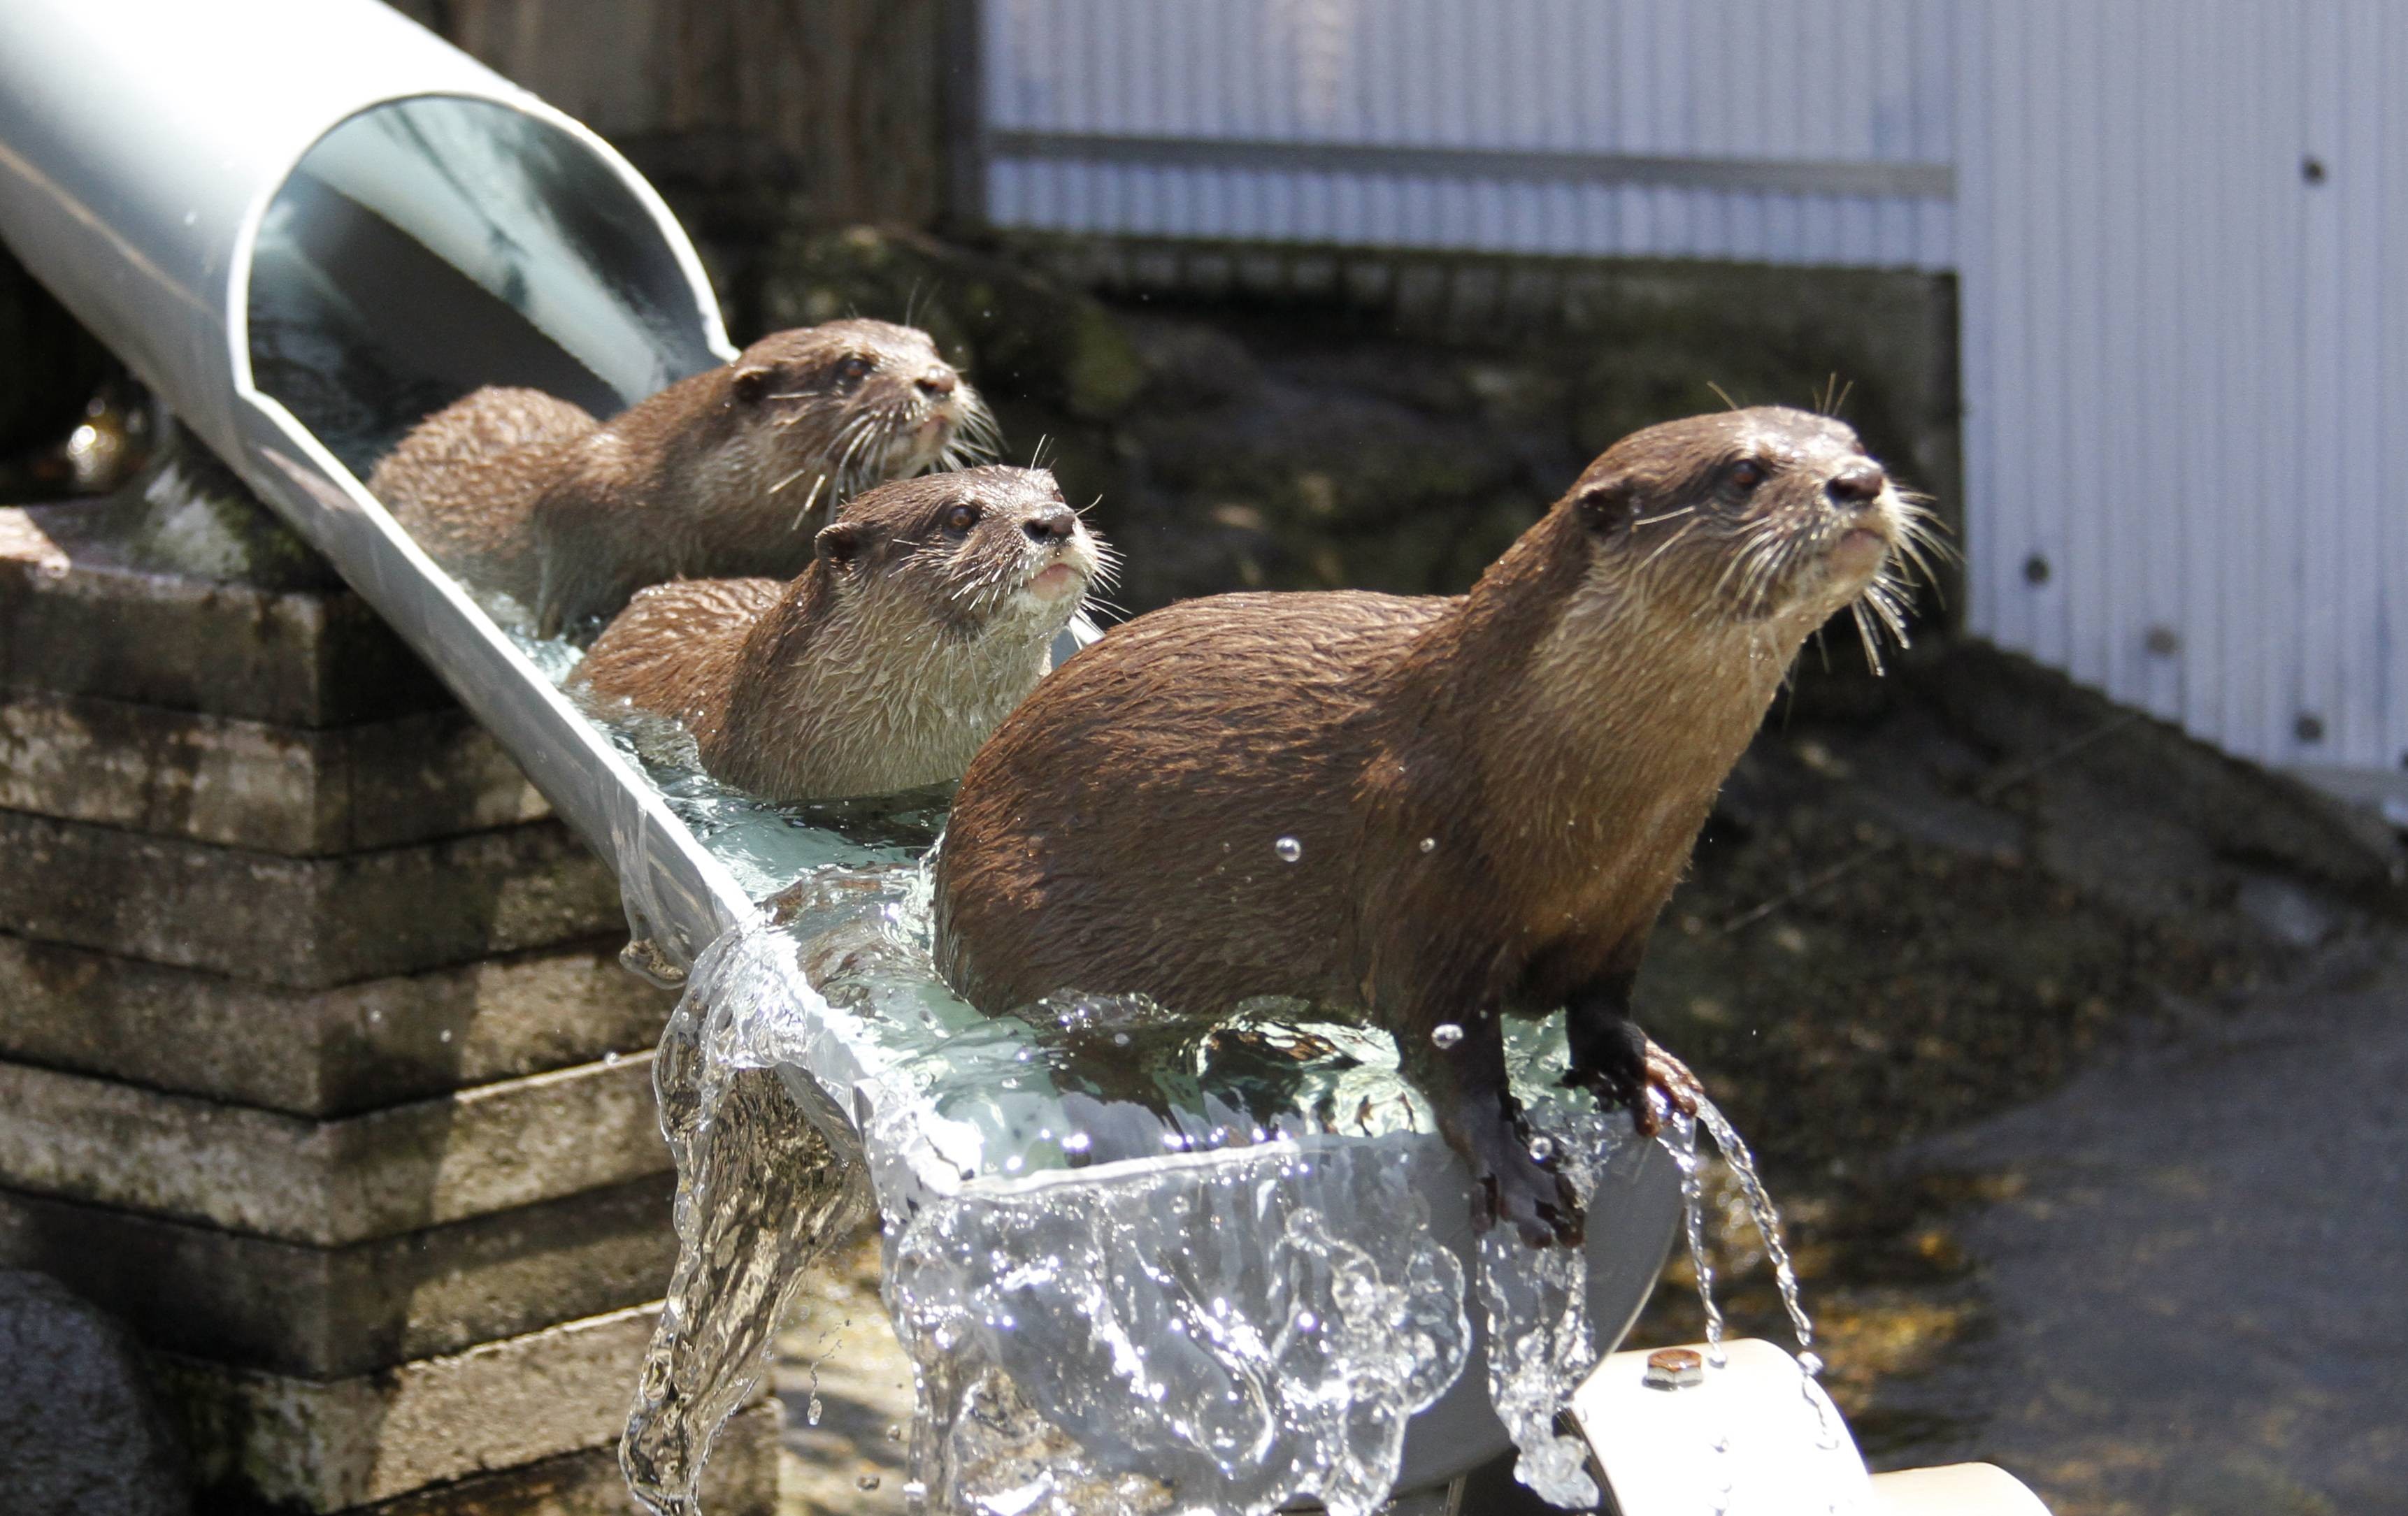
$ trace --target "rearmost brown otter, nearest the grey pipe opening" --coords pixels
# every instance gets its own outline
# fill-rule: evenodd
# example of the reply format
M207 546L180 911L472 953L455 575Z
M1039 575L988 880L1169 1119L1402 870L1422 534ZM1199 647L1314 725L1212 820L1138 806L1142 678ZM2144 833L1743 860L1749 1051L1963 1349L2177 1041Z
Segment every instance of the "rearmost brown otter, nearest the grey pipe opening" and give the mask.
M992 440L927 332L838 320L763 337L604 424L535 390L477 390L419 421L368 493L549 638L669 578L792 575L836 501Z

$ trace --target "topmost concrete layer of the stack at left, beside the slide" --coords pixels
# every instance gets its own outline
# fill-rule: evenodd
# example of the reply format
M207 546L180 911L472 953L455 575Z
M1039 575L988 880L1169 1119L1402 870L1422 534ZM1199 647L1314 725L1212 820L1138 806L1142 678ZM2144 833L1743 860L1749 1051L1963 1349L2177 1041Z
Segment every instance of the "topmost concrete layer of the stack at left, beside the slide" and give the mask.
M0 688L279 727L347 727L453 703L359 597L135 568L101 510L0 510Z

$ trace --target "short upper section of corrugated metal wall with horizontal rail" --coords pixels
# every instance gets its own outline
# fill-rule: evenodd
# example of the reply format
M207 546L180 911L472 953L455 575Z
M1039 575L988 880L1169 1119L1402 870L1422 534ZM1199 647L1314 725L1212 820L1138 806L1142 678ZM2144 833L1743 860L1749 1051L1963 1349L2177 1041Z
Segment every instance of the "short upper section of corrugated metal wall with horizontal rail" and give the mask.
M1953 17L1948 0L987 0L987 217L1946 267Z

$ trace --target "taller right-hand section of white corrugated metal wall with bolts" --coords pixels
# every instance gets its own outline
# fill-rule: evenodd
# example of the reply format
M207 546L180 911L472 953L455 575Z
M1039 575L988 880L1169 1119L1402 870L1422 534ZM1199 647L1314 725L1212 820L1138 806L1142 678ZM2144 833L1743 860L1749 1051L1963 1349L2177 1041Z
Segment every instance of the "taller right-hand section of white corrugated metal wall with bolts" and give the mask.
M1975 628L2235 753L2394 770L2408 7L1960 26Z

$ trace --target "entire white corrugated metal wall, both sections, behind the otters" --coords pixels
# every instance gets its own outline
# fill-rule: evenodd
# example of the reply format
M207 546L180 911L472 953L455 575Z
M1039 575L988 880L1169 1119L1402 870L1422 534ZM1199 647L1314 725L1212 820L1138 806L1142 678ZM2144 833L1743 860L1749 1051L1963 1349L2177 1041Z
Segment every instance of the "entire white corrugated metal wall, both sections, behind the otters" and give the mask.
M2408 760L2408 2L982 0L1004 226L1958 267L1975 630Z

